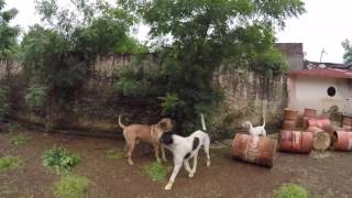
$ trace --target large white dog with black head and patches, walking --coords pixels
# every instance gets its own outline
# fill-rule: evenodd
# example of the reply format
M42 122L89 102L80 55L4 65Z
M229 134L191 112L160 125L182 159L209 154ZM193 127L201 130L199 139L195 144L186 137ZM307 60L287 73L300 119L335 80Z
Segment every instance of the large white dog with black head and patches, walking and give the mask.
M201 118L204 118L201 116ZM202 120L202 125L205 130L205 124ZM210 166L210 155L209 155L209 145L210 139L209 135L200 130L194 132L187 138L177 135L174 132L165 132L160 139L161 143L169 150L174 155L174 170L167 185L165 186L166 190L172 189L175 178L180 169L185 166L185 169L188 172L188 177L194 177L197 168L197 157L198 152L201 145L205 147L207 154L207 166ZM189 160L194 158L194 166L190 168Z

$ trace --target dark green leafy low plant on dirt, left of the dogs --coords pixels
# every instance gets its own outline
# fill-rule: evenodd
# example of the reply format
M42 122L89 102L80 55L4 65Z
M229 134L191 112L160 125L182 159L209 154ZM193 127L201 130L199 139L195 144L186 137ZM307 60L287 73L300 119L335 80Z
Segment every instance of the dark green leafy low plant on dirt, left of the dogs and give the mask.
M52 167L56 173L68 172L80 162L79 156L72 154L68 150L54 146L42 155L43 165Z

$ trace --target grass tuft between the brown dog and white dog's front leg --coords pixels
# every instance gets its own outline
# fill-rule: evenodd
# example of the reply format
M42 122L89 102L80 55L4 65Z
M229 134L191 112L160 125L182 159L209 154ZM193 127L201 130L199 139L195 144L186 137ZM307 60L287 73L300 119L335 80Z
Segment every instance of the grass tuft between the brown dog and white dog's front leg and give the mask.
M167 167L165 167L162 163L151 163L143 167L143 173L150 177L153 182L165 182Z

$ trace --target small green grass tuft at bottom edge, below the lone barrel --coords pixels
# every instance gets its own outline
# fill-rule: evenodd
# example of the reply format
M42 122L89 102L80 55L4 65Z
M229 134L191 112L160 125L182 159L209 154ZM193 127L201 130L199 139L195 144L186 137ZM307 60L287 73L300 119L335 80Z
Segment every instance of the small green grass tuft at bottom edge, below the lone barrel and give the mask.
M308 198L309 193L305 188L295 184L284 184L274 190L273 198Z

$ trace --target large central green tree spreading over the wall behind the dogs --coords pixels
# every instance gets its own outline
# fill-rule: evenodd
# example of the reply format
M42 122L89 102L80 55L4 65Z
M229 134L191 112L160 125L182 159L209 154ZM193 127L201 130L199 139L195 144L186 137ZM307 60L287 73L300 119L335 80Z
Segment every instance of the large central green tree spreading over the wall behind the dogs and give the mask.
M193 122L199 111L211 112L220 99L211 86L218 66L235 62L268 75L285 70L273 47L275 28L305 12L300 0L120 0L124 10L150 28L161 52L165 81L183 106L180 120ZM264 67L262 67L262 63ZM178 114L179 114L178 113ZM198 119L197 119L198 120Z

